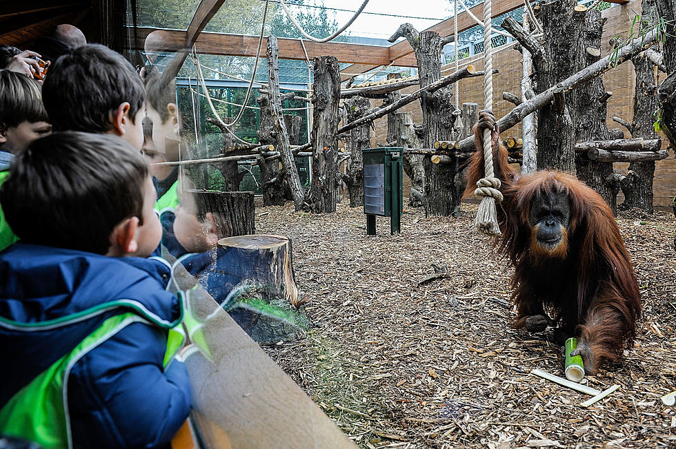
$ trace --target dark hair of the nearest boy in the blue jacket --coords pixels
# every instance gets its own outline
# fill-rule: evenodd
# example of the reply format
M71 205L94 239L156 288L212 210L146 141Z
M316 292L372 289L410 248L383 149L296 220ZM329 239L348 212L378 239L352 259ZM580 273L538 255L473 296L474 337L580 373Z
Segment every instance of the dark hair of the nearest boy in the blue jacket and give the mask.
M60 132L14 157L0 188L12 231L26 243L106 254L115 226L143 224L146 160L117 136Z

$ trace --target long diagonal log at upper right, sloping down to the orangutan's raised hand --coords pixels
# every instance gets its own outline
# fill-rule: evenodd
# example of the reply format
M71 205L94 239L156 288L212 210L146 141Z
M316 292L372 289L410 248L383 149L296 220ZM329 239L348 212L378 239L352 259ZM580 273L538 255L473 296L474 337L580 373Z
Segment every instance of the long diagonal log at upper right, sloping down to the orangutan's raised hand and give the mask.
M617 65L628 61L629 59L633 58L633 56L639 54L639 52L642 52L646 48L650 48L650 46L655 44L656 39L657 39L657 31L653 30L650 32L646 32L645 36L637 37L637 39L634 39L624 47L619 48L617 50L617 54L609 54L603 59L599 59L598 62L589 65L584 70L580 70L576 74L573 74L572 76L566 78L564 81L561 81L559 85L564 87L566 92L573 90L578 85L587 83L591 79L594 79L596 76L602 75L608 72L608 70L612 69L613 67L616 67ZM506 116L500 118L497 121L497 124L499 125L501 132L510 129L511 127L519 123L519 121L521 121L528 114L537 111L537 109L540 109L544 105L548 105L549 103L551 103L554 99L555 87L556 86L550 87L548 90L540 92L530 100L524 101L524 103L521 103L520 105L512 109ZM460 142L460 148L463 149L464 151L470 150L473 147L474 147L474 138L471 137L464 138Z

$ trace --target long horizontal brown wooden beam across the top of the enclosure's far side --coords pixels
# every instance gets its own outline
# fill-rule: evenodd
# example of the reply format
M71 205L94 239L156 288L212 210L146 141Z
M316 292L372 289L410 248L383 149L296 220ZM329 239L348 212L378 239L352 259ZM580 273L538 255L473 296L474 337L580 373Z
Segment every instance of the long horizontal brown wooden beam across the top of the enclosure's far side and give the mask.
M167 51L179 52L186 48L188 34L181 30L157 30L155 28L139 28L139 41L147 36L145 42L132 42L133 49L143 48L146 52ZM133 39L133 38L132 38ZM256 56L258 36L246 34L226 34L201 32L195 41L198 53L217 54L221 56ZM339 62L355 63L368 61L377 65L388 65L388 48L381 45L364 45L357 43L327 42L315 43L304 41L310 60L316 56L336 56ZM264 38L263 45L268 45ZM303 46L299 39L279 38L279 59L305 60ZM397 61L397 65L415 67L415 56Z

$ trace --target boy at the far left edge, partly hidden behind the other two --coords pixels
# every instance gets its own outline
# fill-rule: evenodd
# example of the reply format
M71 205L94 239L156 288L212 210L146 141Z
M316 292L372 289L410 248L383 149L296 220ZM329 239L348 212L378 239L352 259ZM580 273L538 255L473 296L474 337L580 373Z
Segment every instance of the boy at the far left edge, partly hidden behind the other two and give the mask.
M14 153L32 140L49 134L47 112L40 85L33 79L3 70L0 72L0 185L8 174ZM0 251L17 241L0 209Z

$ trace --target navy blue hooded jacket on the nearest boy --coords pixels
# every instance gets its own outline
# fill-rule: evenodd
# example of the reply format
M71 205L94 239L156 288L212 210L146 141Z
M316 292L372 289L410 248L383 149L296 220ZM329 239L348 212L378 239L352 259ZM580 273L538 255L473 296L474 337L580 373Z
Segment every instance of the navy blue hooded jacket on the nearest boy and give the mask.
M0 408L114 315L132 311L167 326L181 320L168 280L166 263L153 259L21 242L0 253ZM66 317L40 331L6 325ZM74 447L150 448L175 435L188 416L190 386L182 363L163 367L167 332L135 322L77 360L64 382Z

